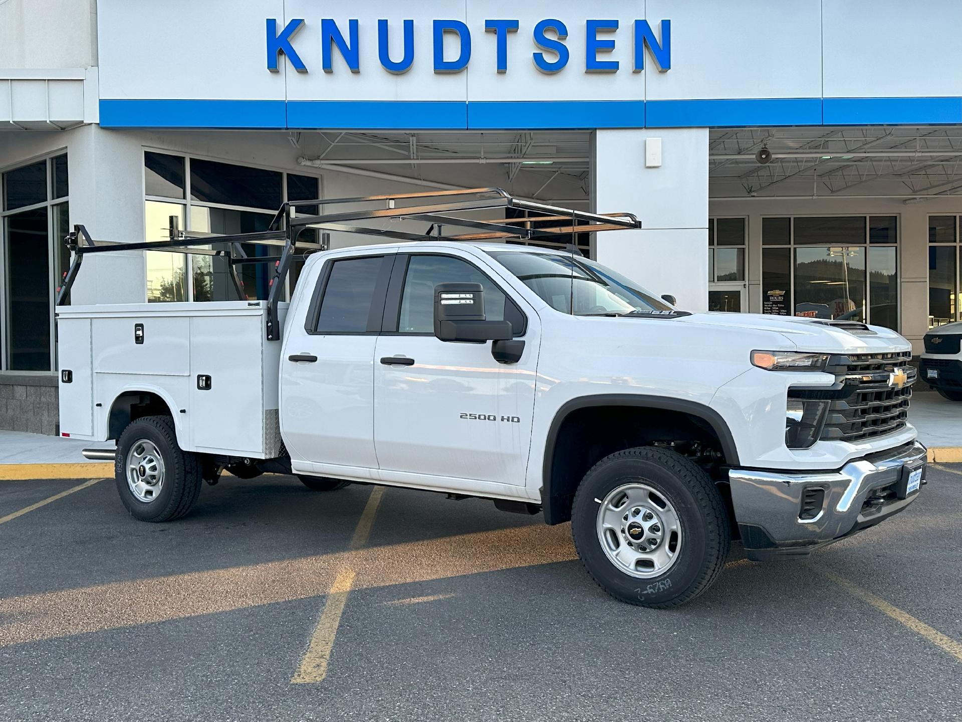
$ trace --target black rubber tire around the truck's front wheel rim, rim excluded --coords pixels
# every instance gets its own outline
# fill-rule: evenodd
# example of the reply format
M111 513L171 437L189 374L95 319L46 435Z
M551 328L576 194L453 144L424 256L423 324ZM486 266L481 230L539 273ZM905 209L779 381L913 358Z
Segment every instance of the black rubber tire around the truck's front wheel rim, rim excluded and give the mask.
M678 555L657 577L638 578L622 571L608 558L598 535L598 505L632 482L642 482L663 496L678 517ZM724 568L731 544L722 495L711 478L690 459L654 448L619 451L595 464L574 495L571 534L585 569L601 588L621 602L656 609L683 605L711 586Z

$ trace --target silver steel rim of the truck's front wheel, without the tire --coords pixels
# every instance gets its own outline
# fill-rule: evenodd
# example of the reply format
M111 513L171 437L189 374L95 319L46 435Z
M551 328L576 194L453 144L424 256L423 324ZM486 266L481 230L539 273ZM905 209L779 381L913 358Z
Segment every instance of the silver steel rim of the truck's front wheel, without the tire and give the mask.
M664 574L681 551L681 522L671 503L644 483L619 486L598 507L598 541L608 559L632 577Z

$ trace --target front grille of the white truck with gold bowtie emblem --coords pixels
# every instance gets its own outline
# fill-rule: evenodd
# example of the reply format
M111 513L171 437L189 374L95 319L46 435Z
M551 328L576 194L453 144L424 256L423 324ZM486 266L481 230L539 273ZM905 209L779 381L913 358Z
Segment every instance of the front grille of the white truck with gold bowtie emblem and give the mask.
M843 382L842 395L829 400L823 441L861 441L904 428L917 373L905 353L856 353L835 356L829 371ZM904 369L908 379L898 388L890 374Z

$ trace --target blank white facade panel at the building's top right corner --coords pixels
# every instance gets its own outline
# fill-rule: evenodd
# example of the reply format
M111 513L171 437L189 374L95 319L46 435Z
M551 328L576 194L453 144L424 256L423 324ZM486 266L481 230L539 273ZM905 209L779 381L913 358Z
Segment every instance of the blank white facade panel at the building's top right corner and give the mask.
M962 95L960 26L958 0L826 0L824 96Z

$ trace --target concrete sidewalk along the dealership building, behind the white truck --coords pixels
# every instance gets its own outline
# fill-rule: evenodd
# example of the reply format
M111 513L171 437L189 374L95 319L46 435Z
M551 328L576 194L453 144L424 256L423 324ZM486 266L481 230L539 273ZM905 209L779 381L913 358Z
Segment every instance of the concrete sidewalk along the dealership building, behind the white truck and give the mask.
M934 392L916 393L912 397L909 421L919 429L919 440L929 449L954 449L962 455L962 403L945 400ZM81 455L82 449L89 448L114 449L114 442L0 431L0 464L97 463Z

